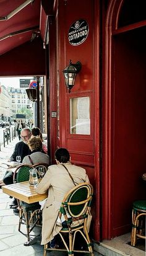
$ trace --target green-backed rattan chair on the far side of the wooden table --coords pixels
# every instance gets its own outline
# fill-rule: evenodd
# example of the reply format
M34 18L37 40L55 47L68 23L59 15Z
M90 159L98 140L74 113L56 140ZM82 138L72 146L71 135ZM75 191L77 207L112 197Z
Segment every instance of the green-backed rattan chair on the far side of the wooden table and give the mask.
M22 164L19 166L14 172L14 182L25 182L29 180L30 172L32 166L27 164ZM17 173L17 175L16 175ZM27 240L30 241L30 232L37 225L38 221L40 221L40 205L39 203L25 203L24 201L19 201L19 232L24 234L24 232L20 231L21 224L24 223L23 217L25 218L25 223L27 226ZM34 221L35 218L35 221ZM30 228L31 225L31 228ZM27 244L25 244L27 245Z

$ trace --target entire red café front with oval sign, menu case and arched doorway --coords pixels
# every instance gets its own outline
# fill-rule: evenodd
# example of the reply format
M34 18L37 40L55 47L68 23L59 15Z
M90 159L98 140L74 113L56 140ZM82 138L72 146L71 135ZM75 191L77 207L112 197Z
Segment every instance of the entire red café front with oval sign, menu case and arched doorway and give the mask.
M41 1L46 50L41 42L34 50L25 43L0 57L0 76L46 75L51 161L64 147L87 170L95 192L95 241L131 231L132 201L145 197L145 5ZM20 68L22 47L24 55L37 56L37 71L25 56ZM7 61L14 56L15 70ZM69 60L82 63L71 93L62 73Z

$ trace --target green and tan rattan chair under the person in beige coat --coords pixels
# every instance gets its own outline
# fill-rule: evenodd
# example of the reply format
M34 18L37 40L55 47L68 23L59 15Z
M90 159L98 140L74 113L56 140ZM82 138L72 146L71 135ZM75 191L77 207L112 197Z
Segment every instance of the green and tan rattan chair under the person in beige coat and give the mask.
M65 250L69 256L74 256L74 252L86 252L93 256L92 244L87 230L87 218L88 214L90 214L92 196L93 187L90 183L80 183L66 194L59 211L59 218L61 219L63 215L66 219L66 223L62 224L62 229L59 232L65 249L51 249L48 248L48 244L45 244L44 256L46 256L48 250ZM84 237L88 250L74 250L77 232L80 232L82 237ZM64 234L68 234L67 241L64 238Z

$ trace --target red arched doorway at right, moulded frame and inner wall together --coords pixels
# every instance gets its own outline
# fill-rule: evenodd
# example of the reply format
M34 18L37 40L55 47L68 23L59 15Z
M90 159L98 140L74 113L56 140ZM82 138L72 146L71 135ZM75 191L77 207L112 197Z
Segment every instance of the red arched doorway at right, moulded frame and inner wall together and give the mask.
M145 195L145 22L119 28L122 4L106 16L103 239L131 231L132 201Z

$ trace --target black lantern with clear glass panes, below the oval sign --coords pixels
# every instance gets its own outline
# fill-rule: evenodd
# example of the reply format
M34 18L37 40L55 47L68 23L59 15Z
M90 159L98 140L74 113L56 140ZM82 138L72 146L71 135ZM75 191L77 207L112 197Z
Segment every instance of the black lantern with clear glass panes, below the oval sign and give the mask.
M66 87L69 89L69 93L71 92L72 87L74 86L75 77L77 73L79 73L80 69L82 68L82 64L80 61L73 64L72 61L69 61L69 66L64 68L62 71L64 73L64 78L66 81Z

